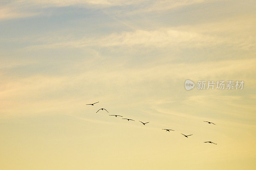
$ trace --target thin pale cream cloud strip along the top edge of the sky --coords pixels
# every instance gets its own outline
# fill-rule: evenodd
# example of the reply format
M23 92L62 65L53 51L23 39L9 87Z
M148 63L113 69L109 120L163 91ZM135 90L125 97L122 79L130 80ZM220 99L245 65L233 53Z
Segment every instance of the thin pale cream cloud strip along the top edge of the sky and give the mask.
M202 2L212 2L216 0L182 0L182 1L152 1L152 0L16 0L8 3L2 2L0 7L0 21L13 19L13 18L25 18L35 15L44 15L43 12L35 12L31 8L41 11L45 8L51 7L66 7L77 6L82 8L92 9L104 9L113 6L136 6L136 12L152 12L152 11L164 11L176 7L183 7L191 4L198 4ZM1 2L0 2L1 3ZM134 8L129 8L128 11L134 11Z

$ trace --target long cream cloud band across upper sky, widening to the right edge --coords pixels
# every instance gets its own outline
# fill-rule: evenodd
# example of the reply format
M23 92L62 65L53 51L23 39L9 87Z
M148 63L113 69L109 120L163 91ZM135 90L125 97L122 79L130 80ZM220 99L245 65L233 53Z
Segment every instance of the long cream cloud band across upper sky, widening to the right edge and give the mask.
M253 22L252 17L246 19ZM252 21L252 22L250 22ZM220 21L195 26L165 27L155 30L135 29L111 33L101 37L84 36L81 39L65 37L61 40L53 37L31 38L41 41L40 44L28 46L29 50L40 48L84 48L84 47L154 47L154 48L197 48L225 45L227 47L251 50L256 46L256 36L252 24L244 23L244 18L231 21ZM225 24L224 24L225 23ZM243 24L244 23L244 24ZM230 31L230 26L232 30ZM216 28L217 27L217 28ZM221 28L221 29L220 29ZM237 34L239 32L239 34ZM225 34L223 34L225 33ZM28 38L27 38L28 39ZM60 41L58 41L60 40Z

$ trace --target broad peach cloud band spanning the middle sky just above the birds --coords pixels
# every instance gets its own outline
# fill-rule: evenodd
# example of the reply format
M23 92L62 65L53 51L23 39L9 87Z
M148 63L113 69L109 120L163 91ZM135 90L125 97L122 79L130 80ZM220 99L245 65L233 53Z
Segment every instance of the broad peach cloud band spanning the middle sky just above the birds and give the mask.
M84 68L86 63L79 63L76 66L69 67L69 69L81 70L79 73L69 73L62 76L54 74L42 76L35 73L35 75L27 78L5 79L0 85L2 89L0 100L3 104L0 111L8 114L17 114L17 112L22 114L41 113L45 111L66 112L76 110L76 106L80 109L79 106L83 105L83 102L80 101L83 98L80 95L81 93L86 93L87 98L95 97L93 92L81 90L77 93L77 89L99 88L97 93L104 94L100 97L102 100L108 100L109 93L111 93L111 98L114 100L117 97L114 93L120 90L123 91L123 95L131 95L131 92L128 92L126 88L132 89L132 94L135 95L143 92L140 87L146 86L149 82L151 85L165 85L166 81L170 80L172 82L182 82L183 85L183 80L187 78L194 80L200 80L201 78L211 78L212 80L236 78L237 80L244 80L246 88L253 88L255 72L252 72L252 70L255 64L255 59L181 64L166 63L153 67L141 66L140 68L126 68L122 65L117 66L110 63L91 63L92 70L82 71L79 67ZM218 65L218 68L215 67L216 65ZM147 81L145 82L145 80ZM177 86L176 83L174 85ZM101 90L102 86L104 86L104 89ZM157 94L154 89L148 89L147 93ZM150 103L147 98L145 100ZM197 102L206 101L204 98L195 100ZM42 101L44 102L42 103ZM143 102L145 104L145 101ZM161 101L160 103L164 102ZM191 101L188 101L188 103L191 103ZM212 104L210 101L207 103ZM230 103L230 106L233 106L233 104ZM126 105L129 105L129 103ZM246 105L236 107L253 109ZM33 111L33 108L36 108L36 111Z

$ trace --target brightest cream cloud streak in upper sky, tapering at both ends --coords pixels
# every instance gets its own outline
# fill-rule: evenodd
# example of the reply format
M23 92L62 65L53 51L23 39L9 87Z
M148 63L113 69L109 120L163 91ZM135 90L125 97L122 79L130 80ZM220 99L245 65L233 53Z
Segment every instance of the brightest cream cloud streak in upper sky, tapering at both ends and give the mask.
M131 32L112 33L100 38L83 38L76 41L62 41L43 45L32 45L29 50L40 48L84 48L84 47L209 47L227 43L227 39L196 32L178 31L172 28L155 31L136 30ZM232 42L230 42L232 43Z

